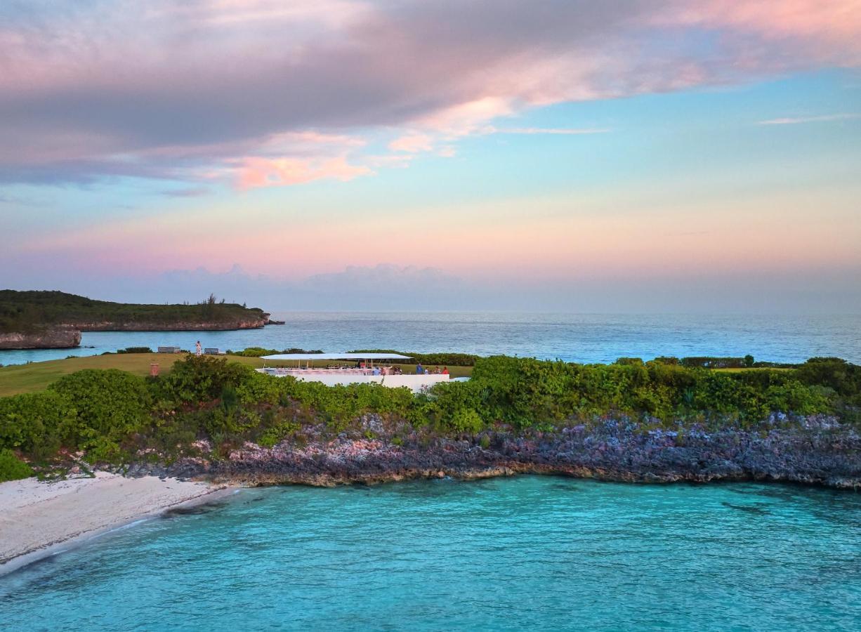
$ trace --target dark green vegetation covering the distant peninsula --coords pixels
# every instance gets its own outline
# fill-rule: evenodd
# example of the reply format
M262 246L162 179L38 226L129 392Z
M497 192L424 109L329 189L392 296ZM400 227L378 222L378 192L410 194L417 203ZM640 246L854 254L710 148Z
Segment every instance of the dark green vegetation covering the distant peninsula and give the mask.
M94 301L65 292L0 290L0 332L39 331L50 325L102 322L156 326L262 318L263 310L257 307L217 301L212 295L195 305L138 305Z

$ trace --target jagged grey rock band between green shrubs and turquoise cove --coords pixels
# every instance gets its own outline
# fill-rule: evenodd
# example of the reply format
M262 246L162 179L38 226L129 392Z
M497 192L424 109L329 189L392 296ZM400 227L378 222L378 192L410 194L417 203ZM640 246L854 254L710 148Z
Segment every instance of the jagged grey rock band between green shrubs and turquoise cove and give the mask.
M137 468L144 473L152 466ZM413 435L393 443L342 434L329 440L304 437L271 449L246 443L225 460L186 458L162 471L246 486L532 473L647 483L779 480L861 489L861 435L833 418L776 421L766 431L693 426L684 433L641 431L629 420L610 419L598 427L521 436L486 433L469 441Z

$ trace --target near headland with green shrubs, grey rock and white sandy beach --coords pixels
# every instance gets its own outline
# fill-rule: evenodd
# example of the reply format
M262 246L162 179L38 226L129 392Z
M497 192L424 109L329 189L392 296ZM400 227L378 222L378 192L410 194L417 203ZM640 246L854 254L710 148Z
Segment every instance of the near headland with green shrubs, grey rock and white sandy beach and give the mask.
M98 474L94 482L46 488L32 478L3 484L17 486L23 499L4 516L11 544L3 555L111 528L223 486L530 473L861 489L861 367L839 358L744 369L668 357L446 362L457 357L433 355L467 381L420 393L275 377L255 370L260 358L242 355L172 357L164 373L147 377L119 368L59 371L40 390L0 397L0 479ZM136 362L146 361L145 354ZM17 370L0 370L9 369ZM42 489L67 485L42 503ZM4 506L9 498L4 492Z

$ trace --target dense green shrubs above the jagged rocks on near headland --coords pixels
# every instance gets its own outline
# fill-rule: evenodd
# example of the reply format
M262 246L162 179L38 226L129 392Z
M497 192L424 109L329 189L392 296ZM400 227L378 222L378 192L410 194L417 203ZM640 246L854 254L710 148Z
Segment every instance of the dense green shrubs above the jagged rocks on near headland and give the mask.
M331 433L363 414L412 427L475 435L500 424L552 430L610 414L641 418L643 428L679 420L753 427L771 412L830 413L858 423L861 367L814 358L798 369L722 372L666 362L610 365L479 358L473 379L414 395L406 388L273 378L226 359L189 356L169 374L143 378L115 369L65 375L42 393L0 398L0 449L35 462L84 450L90 461L127 462L135 454L210 456L253 441L272 446L307 424ZM143 452L141 452L141 450Z

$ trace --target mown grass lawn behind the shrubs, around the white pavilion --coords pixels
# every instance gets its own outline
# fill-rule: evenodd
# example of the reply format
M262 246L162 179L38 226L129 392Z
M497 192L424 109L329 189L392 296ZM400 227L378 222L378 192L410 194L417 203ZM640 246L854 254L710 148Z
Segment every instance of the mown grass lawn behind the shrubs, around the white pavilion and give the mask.
M158 362L159 373L164 375L174 362L184 358L185 354L165 353L123 353L108 356L70 357L65 360L49 360L47 362L32 362L30 364L15 364L0 367L0 397L16 393L33 393L44 390L48 384L58 380L63 375L82 369L120 369L135 375L150 375L150 363ZM263 360L258 357L224 356L228 362L241 362L255 369L263 366ZM324 367L329 362L312 362L312 366ZM266 362L267 366L289 366L288 362ZM397 365L404 373L414 373L415 364ZM472 367L449 367L452 377L471 375Z

